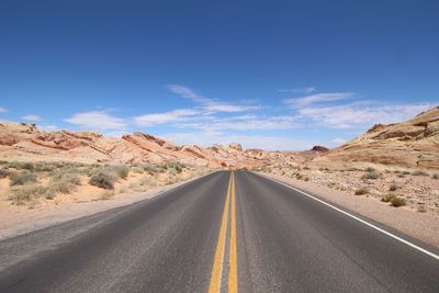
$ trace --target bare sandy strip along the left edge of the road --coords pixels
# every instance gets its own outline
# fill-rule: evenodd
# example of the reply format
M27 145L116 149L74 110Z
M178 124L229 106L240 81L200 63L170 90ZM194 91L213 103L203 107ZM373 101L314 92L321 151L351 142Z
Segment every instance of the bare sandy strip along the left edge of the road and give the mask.
M133 192L132 190L135 190L138 177L140 176L134 174L124 182L125 185L134 185L130 189L130 192L116 193L111 200L98 200L99 195L103 192L102 189L90 185L85 187L88 189L88 192L85 194L92 194L91 191L95 191L93 195L95 198L94 201L90 201L90 195L81 195L83 190L78 190L75 194L67 194L64 198L57 196L57 202L55 200L53 203L40 202L36 206L11 206L10 202L2 200L0 201L0 240L105 210L151 199L167 190L200 178L185 179L173 184L151 188L144 192ZM4 182L2 183L5 184ZM115 188L121 189L124 187L116 185Z

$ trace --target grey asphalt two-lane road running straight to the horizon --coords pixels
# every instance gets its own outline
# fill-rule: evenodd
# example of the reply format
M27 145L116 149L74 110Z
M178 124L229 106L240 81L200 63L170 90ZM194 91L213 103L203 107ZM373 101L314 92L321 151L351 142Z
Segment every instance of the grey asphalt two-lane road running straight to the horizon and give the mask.
M1 241L0 292L439 292L435 256L267 178L222 171Z

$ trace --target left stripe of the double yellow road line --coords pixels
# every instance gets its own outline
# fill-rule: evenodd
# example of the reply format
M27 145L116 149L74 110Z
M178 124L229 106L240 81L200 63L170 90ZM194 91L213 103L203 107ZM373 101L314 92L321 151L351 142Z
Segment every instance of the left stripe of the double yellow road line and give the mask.
M225 244L226 244L230 189L232 189L232 174L228 179L226 202L224 204L223 217L221 221L219 237L218 237L218 243L216 245L216 250L215 250L215 259L214 259L213 268L212 268L209 293L221 292L221 279L222 279L222 274L223 274L223 259L224 259L224 248L225 248Z

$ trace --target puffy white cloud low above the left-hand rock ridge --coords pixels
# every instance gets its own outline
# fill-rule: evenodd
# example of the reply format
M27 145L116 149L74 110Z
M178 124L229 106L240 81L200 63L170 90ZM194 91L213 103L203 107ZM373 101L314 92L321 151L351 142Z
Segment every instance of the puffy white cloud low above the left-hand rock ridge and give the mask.
M127 124L123 119L111 116L105 111L90 111L90 112L77 113L64 121L83 127L86 129L122 131L127 128Z

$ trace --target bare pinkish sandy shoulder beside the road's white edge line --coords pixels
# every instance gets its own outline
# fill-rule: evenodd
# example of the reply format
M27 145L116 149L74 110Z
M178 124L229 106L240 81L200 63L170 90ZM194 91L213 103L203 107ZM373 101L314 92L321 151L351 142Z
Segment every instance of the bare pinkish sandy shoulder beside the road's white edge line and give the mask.
M352 193L337 191L311 181L301 181L279 174L260 173L294 185L372 221L439 247L439 217L434 214L415 212L409 207L392 207L375 198L353 195Z

